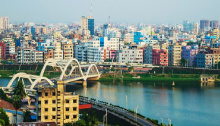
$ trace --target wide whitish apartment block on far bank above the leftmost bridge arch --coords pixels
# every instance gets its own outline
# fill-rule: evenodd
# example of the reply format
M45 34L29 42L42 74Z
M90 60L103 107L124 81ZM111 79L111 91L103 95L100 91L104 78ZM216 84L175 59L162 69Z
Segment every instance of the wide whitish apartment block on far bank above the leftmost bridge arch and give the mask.
M44 62L43 52L34 50L33 48L18 48L16 59L19 64Z

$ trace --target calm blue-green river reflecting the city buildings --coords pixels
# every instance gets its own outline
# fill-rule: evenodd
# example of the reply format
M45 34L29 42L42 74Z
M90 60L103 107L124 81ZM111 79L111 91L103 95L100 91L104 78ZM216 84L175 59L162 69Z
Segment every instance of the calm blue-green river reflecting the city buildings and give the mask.
M0 86L9 80L0 78ZM73 84L66 90L125 108L127 95L129 109L140 105L139 113L165 124L170 118L174 126L220 124L220 83L175 82L172 87L172 82L90 82L87 88Z

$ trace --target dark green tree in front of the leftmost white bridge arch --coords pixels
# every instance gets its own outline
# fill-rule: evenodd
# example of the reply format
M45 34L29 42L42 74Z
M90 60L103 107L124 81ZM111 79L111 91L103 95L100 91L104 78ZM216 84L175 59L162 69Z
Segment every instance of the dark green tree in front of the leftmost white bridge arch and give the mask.
M18 83L14 86L14 89L12 92L13 92L13 95L19 95L21 99L25 98L27 95L22 81L18 81Z

